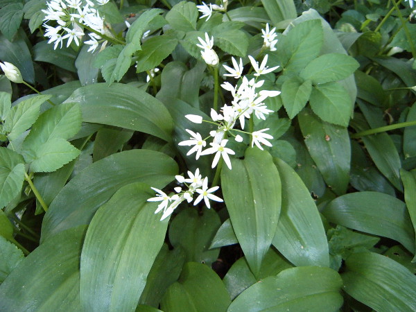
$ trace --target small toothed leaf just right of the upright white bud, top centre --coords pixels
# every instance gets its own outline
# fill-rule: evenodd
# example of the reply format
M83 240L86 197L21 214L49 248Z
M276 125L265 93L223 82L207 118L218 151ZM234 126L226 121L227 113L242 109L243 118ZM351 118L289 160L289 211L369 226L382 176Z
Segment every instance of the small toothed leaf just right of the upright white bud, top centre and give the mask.
M221 50L244 58L248 49L248 37L243 31L232 29L218 33L214 37L215 44Z

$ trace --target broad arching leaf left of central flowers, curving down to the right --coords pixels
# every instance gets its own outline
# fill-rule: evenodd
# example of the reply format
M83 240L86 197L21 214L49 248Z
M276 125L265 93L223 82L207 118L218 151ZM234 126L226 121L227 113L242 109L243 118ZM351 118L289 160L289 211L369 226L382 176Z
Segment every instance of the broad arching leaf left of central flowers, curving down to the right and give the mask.
M80 103L83 121L115 125L171 141L173 121L166 107L144 91L114 83L77 89L65 103Z

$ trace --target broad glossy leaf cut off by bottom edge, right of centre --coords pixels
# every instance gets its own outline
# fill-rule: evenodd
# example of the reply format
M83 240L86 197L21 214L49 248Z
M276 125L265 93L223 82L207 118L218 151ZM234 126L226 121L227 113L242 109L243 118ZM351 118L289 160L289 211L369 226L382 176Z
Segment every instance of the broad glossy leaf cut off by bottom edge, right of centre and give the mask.
M330 268L288 268L243 291L227 311L338 311L342 285L340 275Z

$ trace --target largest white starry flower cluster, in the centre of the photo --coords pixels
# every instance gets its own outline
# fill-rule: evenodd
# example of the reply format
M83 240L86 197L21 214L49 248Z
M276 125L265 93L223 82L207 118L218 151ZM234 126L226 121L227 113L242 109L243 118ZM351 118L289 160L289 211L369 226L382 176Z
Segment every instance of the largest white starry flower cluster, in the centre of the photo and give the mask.
M278 68L268 68L266 66L268 55L263 58L263 61L260 65L258 62L256 62L256 60L254 60L254 58L252 58L251 55L249 58L255 71L254 76L258 77L263 74L270 73L271 71L274 71ZM238 63L234 58L232 58L232 62L234 64L234 69L224 65L225 69L229 72L226 73L225 76L240 78L241 73L243 72L243 60L240 59L240 62ZM222 157L225 164L227 164L227 167L231 169L232 164L229 159L229 155L234 155L235 152L231 148L226 147L229 141L227 137L231 136L234 137L236 141L243 141L241 135L236 135L234 132L243 132L251 135L251 146L254 146L255 144L261 150L263 150L261 144L271 146L268 140L273 139L273 137L266 133L266 131L269 130L268 128L251 133L244 131L245 120L250 119L252 114L254 114L254 116L256 116L258 119L266 119L265 115L270 114L272 110L269 110L263 101L268 97L277 96L280 94L279 91L268 90L261 90L257 92L257 88L261 87L263 83L264 80L256 81L254 78L249 80L245 76L243 76L241 85L239 86L234 86L231 83L223 83L221 87L232 93L233 100L231 105L224 105L221 107L220 114L218 114L214 109L211 109L212 121L207 122L217 125L217 130L212 130L209 133L210 137L213 138L212 142L209 143L211 147L203 150L203 148L207 146L206 141L209 139L209 137L202 139L200 133L187 129L187 132L189 135L191 135L191 137L189 140L181 141L179 143L180 146L192 146L187 155L196 153L196 159L198 159L201 155L210 155L215 153L211 167L214 168L218 164L220 157ZM193 123L202 123L203 121L202 116L198 115L189 114L185 117L187 117L187 119ZM234 128L237 121L239 121L241 129Z

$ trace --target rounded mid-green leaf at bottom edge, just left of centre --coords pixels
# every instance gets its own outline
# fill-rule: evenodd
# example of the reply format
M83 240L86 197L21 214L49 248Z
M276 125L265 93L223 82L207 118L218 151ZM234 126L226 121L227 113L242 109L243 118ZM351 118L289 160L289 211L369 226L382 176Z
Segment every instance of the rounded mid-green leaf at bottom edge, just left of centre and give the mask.
M201 263L188 262L179 281L166 291L162 311L226 311L231 303L223 281L216 272Z

